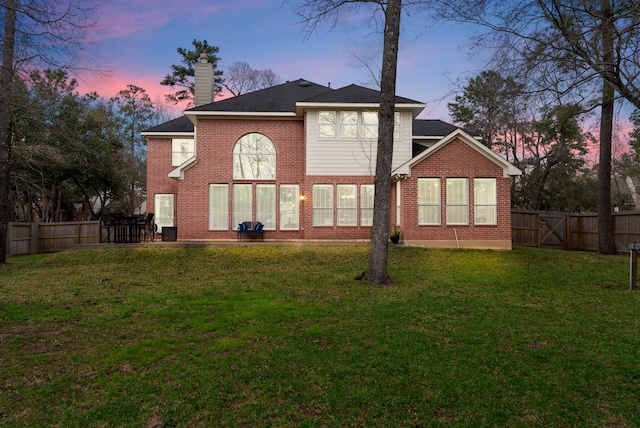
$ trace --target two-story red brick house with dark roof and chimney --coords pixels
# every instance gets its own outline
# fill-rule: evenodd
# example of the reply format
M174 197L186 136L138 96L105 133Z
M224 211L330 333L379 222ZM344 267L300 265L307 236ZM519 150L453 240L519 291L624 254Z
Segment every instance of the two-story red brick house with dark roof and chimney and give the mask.
M212 79L204 58L196 107L143 133L159 228L230 240L252 221L265 240L369 240L379 92L299 79L212 102ZM510 249L520 171L463 130L416 119L425 104L395 102L390 230L405 245Z

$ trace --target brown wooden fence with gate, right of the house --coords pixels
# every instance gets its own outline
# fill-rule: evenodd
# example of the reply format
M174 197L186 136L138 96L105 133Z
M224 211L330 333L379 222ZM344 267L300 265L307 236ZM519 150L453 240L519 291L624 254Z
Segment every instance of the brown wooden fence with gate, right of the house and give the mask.
M619 253L640 242L640 212L613 213L613 236ZM598 251L598 215L547 211L511 212L513 245Z

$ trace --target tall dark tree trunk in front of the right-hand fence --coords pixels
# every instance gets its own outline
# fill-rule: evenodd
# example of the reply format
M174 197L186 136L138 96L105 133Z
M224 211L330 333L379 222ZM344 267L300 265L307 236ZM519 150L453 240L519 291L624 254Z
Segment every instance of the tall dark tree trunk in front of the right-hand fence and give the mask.
M613 21L610 0L600 0L602 12L602 48L605 75L613 76ZM611 214L611 140L613 137L615 91L608 80L602 86L600 116L600 157L598 163L598 251L616 254Z

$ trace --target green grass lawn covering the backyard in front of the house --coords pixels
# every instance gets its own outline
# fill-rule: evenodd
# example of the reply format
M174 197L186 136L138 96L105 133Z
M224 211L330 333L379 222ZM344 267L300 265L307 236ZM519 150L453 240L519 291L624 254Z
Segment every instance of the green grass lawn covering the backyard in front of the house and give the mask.
M0 266L0 426L640 426L626 256L135 248Z

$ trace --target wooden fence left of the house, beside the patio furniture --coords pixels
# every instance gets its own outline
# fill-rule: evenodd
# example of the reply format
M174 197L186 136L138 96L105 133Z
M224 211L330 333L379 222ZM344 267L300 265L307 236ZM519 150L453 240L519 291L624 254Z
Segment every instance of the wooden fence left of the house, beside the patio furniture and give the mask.
M8 255L62 251L78 244L100 242L99 221L9 223Z

